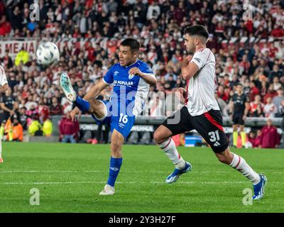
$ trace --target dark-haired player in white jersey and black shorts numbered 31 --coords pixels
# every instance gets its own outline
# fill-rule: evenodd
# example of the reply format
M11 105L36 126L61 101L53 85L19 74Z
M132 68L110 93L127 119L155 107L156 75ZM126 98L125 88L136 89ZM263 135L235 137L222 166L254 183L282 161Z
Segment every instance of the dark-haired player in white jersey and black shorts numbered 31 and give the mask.
M223 129L222 114L214 98L216 89L215 57L206 48L209 34L204 26L185 28L185 48L191 56L182 62L182 78L187 80L186 91L180 89L180 99L186 92L185 105L168 117L154 133L154 140L175 165L166 183L175 182L180 175L189 172L190 162L185 162L178 153L171 136L195 129L210 145L220 162L241 172L253 183L253 198L261 199L264 194L266 176L256 173L244 158L231 153Z

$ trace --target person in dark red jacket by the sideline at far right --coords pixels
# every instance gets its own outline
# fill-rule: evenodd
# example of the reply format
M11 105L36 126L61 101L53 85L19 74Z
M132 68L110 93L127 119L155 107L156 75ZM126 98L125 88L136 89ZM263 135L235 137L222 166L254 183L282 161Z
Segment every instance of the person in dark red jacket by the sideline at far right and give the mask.
M278 148L279 143L277 128L273 126L272 120L268 119L266 126L261 129L259 148Z

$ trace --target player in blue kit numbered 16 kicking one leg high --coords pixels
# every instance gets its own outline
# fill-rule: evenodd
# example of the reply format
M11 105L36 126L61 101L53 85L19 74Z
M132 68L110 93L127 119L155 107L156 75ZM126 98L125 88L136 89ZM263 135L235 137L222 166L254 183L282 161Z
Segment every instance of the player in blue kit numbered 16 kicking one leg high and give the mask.
M67 73L60 76L65 96L76 106L71 112L72 119L81 112L87 112L98 124L104 123L111 128L109 179L100 195L114 194L114 184L122 164L122 145L136 117L143 111L150 85L157 82L151 67L138 59L139 48L137 40L124 40L119 46L119 63L113 65L83 99L75 93ZM114 86L110 101L97 100L96 97L109 84Z

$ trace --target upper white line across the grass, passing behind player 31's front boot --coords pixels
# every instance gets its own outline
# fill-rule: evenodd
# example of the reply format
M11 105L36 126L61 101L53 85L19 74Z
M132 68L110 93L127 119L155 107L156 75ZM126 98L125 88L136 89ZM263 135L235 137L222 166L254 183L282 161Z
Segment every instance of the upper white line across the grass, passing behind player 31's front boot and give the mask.
M170 170L169 170L170 171ZM1 171L0 174L2 173L67 173L67 172L73 172L73 173L88 173L88 172L108 172L108 170L6 170L6 171ZM140 172L150 172L150 173L164 173L168 174L170 172L166 171L148 171L148 170L136 170L136 171L131 171L134 173L140 173ZM202 173L202 174L213 174L218 173L218 174L225 174L228 173L229 171L190 171L190 172L195 172L195 173ZM266 173L269 174L284 174L283 172L269 172L266 171Z

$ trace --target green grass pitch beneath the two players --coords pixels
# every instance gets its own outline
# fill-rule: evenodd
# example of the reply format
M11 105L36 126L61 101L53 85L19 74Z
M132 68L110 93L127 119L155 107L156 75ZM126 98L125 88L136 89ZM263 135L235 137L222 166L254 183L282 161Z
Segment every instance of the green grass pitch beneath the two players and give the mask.
M109 145L3 143L0 212L284 212L284 150L239 149L268 177L266 195L244 205L252 184L217 161L209 148L178 148L192 171L165 184L173 165L156 146L124 145L114 196L99 196L109 172ZM40 192L31 206L30 190Z

